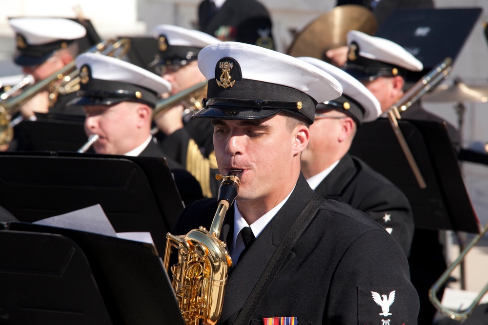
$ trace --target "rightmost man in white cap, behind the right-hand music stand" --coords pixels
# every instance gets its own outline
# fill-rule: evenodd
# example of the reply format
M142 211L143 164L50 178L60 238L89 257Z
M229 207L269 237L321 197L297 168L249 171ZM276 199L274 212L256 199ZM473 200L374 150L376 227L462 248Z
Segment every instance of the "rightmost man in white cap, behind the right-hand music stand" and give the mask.
M347 34L349 51L346 72L360 80L371 93L378 98L381 109L386 112L403 95L405 76L409 72L421 71L422 63L400 45L384 39L368 36L358 31ZM452 147L459 149L458 131L440 116L424 110L420 100L414 102L406 111L401 112L402 119L430 120L446 125ZM429 218L430 215L416 216ZM428 299L430 286L446 269L439 232L431 229L416 228L409 257L412 283L420 297L419 323L430 324L435 315L435 308ZM442 289L439 291L442 296Z

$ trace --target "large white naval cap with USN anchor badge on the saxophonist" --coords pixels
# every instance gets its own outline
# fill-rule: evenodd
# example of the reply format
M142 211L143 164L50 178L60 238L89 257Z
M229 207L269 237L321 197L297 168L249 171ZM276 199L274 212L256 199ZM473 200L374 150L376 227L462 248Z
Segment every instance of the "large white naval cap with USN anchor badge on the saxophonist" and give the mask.
M286 110L313 123L317 102L342 94L341 84L323 70L256 45L209 45L198 67L208 80L208 98L194 117L257 119Z

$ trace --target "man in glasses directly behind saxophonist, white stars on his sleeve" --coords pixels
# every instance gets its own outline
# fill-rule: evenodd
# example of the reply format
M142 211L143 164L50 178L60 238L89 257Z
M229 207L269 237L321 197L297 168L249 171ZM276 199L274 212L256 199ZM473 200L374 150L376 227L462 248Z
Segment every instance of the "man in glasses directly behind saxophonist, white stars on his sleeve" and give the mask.
M364 161L348 153L363 122L376 120L380 103L353 76L313 57L299 57L335 77L341 97L318 103L310 141L302 153L302 173L310 187L326 199L345 202L382 225L408 256L413 214L405 194Z

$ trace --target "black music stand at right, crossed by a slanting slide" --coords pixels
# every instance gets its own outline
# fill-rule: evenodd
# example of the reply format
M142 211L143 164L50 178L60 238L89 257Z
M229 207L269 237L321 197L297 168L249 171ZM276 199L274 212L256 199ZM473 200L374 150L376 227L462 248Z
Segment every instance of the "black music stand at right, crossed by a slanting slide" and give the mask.
M384 118L364 123L349 153L363 159L407 195L416 228L479 233L478 218L445 124L405 119L398 123L427 188L419 187L388 120Z

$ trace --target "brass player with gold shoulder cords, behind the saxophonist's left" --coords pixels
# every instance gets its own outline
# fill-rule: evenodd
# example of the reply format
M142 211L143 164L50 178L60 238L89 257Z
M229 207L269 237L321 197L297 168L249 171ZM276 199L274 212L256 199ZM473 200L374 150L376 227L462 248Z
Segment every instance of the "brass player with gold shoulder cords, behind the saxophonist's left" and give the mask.
M159 48L156 64L163 78L171 83L172 96L205 81L198 69L198 53L207 45L219 43L219 39L173 25L156 26L153 35ZM217 195L220 184L215 179L218 170L213 153L213 127L208 120L191 119L191 111L196 108L190 98L201 104L205 93L202 88L186 96L181 103L159 114L155 123L161 131L156 137L163 151L198 179L206 197L212 197ZM185 110L190 114L183 113Z

